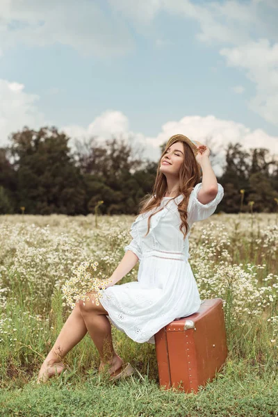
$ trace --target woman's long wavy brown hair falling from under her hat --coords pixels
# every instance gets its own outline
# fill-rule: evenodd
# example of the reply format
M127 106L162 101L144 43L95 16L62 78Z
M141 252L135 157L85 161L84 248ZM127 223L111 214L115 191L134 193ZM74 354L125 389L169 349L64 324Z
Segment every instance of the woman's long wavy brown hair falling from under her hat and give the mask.
M188 141L191 145L188 145ZM199 183L201 178L201 167L196 160L197 154L197 147L188 139L186 136L183 135L174 135L168 140L165 149L161 155L161 158L158 162L158 168L156 171L156 181L154 182L154 186L152 188L152 193L148 193L143 197L141 202L139 203L139 214L147 213L148 211L152 211L155 208L158 208L161 204L161 200L165 195L167 190L167 179L163 172L160 170L161 160L163 159L167 149L173 145L173 143L182 142L183 144L183 163L179 170L179 195L183 195L183 199L178 206L179 215L181 218L181 224L179 226L180 231L183 234L183 240L186 238L186 235L189 231L189 226L187 222L188 213L188 202L189 196L193 188ZM172 197L168 200L166 205L175 197ZM160 210L154 211L151 215L149 215L148 222L147 222L147 234L149 233L150 221L154 214L158 213L159 211L163 210L165 206L163 206Z

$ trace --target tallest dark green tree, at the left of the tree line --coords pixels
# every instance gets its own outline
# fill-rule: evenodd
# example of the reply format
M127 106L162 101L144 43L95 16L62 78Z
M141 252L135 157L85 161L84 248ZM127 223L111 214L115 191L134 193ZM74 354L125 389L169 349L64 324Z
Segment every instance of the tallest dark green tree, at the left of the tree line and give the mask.
M24 127L13 133L17 207L31 214L84 214L83 177L70 154L65 133L55 127L35 131Z

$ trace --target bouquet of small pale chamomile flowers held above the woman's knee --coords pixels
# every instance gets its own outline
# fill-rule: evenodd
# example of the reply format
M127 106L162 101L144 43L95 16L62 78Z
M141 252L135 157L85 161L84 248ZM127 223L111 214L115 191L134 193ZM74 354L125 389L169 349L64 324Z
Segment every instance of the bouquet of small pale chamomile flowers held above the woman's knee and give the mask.
M76 302L90 300L90 297L86 294L95 291L96 305L99 306L101 289L110 286L112 279L101 271L95 273L98 265L97 261L89 259L81 262L78 268L75 268L75 266L72 268L72 277L67 279L61 288L63 299L65 299L63 305L67 304L71 309L74 309ZM92 302L94 301L92 300Z

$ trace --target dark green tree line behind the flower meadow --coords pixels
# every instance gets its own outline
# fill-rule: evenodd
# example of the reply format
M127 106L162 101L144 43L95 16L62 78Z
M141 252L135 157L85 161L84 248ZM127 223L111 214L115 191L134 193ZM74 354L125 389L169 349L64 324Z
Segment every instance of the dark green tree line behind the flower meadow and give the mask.
M102 145L97 138L76 140L73 151L70 137L55 126L37 131L24 126L8 140L0 147L0 214L87 215L98 207L101 214L135 215L156 178L158 161L142 158L140 147L121 138L112 136ZM210 149L213 165L216 155ZM224 197L216 213L276 212L277 156L231 142L224 152L218 177Z

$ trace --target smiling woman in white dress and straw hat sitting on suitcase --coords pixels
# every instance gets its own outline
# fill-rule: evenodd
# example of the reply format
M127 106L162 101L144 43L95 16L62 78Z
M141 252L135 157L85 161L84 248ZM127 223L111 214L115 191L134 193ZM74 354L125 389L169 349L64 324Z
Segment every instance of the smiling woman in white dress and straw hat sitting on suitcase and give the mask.
M188 236L193 222L214 213L224 190L218 183L208 147L183 135L172 136L159 161L151 198L142 201L131 225L131 243L101 289L90 301L76 303L47 355L38 382L60 373L62 359L88 332L99 351L99 373L110 379L133 373L113 347L111 322L138 343L154 343L154 334L175 318L195 313L201 304L188 263ZM202 174L202 183L200 177ZM138 262L138 281L115 286Z

